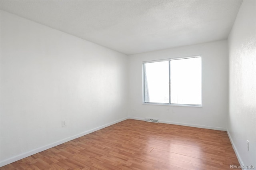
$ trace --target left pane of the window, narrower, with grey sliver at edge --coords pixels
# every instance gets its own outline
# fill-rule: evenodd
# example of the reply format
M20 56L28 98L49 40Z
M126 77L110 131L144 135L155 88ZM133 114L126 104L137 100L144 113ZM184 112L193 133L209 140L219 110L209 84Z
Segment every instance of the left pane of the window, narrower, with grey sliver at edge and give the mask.
M144 102L169 103L169 61L145 63Z

